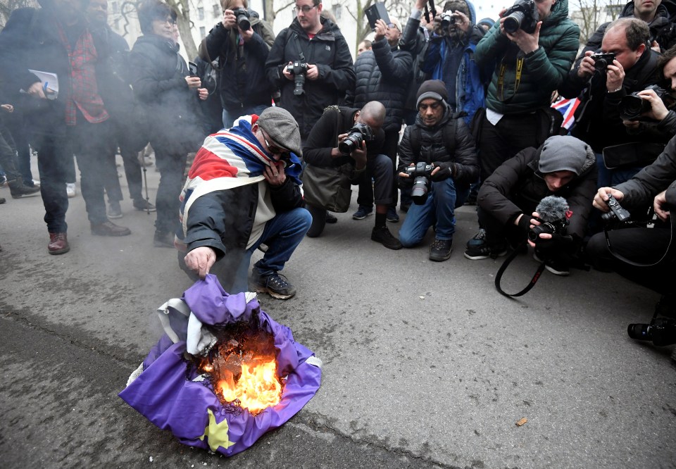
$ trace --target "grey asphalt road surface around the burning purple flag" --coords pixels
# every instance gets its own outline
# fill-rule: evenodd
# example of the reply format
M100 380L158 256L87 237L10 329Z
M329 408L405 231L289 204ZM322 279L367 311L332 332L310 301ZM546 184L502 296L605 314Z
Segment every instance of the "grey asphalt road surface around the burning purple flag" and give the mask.
M493 285L500 261L462 255L470 207L444 263L427 246L384 249L370 241L373 217L351 211L303 241L284 269L298 294L260 301L323 359L322 387L225 458L179 444L117 396L158 338L154 310L190 286L173 250L152 246L154 215L123 201L132 235L94 237L77 196L71 251L49 256L41 199L0 196L3 468L676 467L672 347L626 332L649 321L658 295L574 270L506 299ZM536 267L517 258L505 289Z

